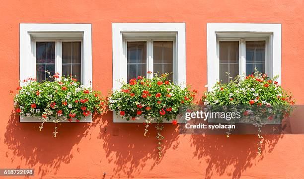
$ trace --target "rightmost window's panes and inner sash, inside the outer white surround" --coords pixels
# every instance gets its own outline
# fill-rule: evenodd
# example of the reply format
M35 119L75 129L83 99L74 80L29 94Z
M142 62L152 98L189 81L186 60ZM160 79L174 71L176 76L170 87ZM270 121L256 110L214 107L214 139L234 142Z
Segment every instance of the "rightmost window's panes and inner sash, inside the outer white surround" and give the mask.
M268 48L267 38L236 38L233 40L231 38L219 38L219 80L222 83L228 83L237 75L249 75L254 73L255 70L270 74L269 68L266 68L269 65L266 64L266 61L270 61L267 56ZM241 65L242 63L245 64L244 68Z

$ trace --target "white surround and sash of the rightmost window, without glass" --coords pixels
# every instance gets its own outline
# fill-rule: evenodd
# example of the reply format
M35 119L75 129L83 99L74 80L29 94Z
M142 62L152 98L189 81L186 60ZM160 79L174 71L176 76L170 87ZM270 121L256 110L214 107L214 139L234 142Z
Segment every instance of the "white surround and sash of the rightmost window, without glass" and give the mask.
M208 91L219 81L219 41L239 41L239 72L246 70L245 41L266 40L265 72L281 84L281 24L207 23ZM242 74L240 74L242 75Z

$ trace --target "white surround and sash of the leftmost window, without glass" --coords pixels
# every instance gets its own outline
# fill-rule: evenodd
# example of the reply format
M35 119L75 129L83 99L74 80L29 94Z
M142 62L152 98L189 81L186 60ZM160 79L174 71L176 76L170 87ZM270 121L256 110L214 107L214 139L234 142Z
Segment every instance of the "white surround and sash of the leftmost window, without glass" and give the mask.
M92 81L91 24L20 23L20 81L36 78L36 41L55 41L55 72L62 74L61 42L81 41L81 83ZM24 84L20 82L20 86Z

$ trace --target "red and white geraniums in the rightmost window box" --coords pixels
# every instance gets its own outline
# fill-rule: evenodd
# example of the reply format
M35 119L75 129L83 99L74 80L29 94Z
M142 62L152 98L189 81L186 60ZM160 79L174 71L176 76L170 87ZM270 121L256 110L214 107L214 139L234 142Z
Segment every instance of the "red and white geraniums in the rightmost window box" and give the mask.
M217 82L212 91L204 94L202 101L208 109L227 110L227 106L230 109L237 108L242 119L258 127L258 154L261 154L261 127L266 124L266 120L288 117L293 111L291 105L295 103L276 79L270 79L260 72L245 76L244 79L237 76L226 84ZM229 134L230 131L227 137Z

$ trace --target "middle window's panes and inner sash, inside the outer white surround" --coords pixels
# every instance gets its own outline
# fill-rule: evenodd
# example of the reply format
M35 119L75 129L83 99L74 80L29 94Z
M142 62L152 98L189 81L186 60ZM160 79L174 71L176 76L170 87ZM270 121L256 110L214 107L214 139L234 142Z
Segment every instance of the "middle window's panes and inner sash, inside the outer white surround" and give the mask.
M137 76L147 77L148 71L153 71L154 73L158 74L171 73L168 76L168 79L170 81L173 81L173 74L175 72L175 69L173 69L174 42L175 39L170 39L167 41L164 41L163 39L129 41L128 38L126 38L125 43L127 44L127 81L133 78L137 78ZM148 77L152 78L152 75L149 75Z

